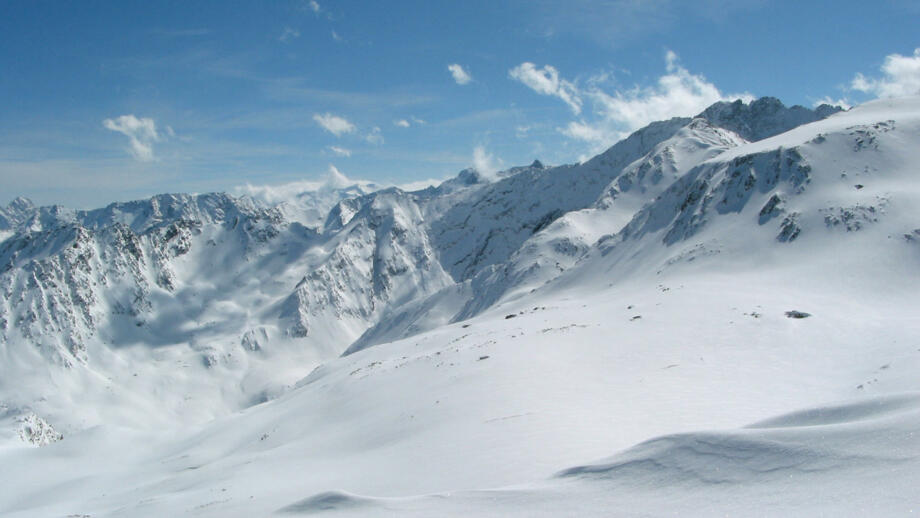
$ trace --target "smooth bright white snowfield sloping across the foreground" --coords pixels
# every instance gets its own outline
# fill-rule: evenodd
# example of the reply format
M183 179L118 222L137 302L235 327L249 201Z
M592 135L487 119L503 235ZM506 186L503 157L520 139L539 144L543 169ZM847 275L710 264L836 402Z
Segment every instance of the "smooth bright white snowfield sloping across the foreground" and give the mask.
M275 401L178 437L102 427L7 450L0 509L553 516L632 504L652 515L807 516L852 502L808 499L804 488L857 495L882 514L909 509L907 489L920 476L916 396L906 406L886 401L917 392L917 283L856 297L820 291L846 274L817 268L802 272L811 282L791 282L794 267L719 270L681 284L643 278L577 299L536 297L536 310L503 307L372 347ZM787 318L793 309L812 316ZM809 408L828 414L826 424L797 417L744 429ZM47 473L58 473L51 498L35 482ZM897 483L864 483L892 476Z

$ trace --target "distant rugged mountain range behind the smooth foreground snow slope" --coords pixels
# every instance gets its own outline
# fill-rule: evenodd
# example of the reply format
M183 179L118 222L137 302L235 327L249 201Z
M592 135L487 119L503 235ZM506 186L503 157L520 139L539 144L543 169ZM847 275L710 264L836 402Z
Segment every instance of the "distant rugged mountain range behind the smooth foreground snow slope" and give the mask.
M746 142L718 124L775 135L836 111L785 108L773 98L717 103L695 118L652 123L581 164L535 160L491 180L465 170L415 192L333 186L278 204L163 194L93 210L17 199L0 209L0 221L17 226L0 242L0 286L18 301L0 306L0 339L7 349L32 343L70 367L90 365L93 350L125 339L178 341L183 356L207 368L305 347L318 358L351 353L383 336L473 317L509 291L554 279L604 234L571 229L607 218L601 227L619 230L686 164ZM225 274L209 280L215 271ZM234 298L253 282L261 286L244 297L252 303ZM418 301L429 298L442 304L419 312ZM234 308L229 317L216 313L222 305ZM212 313L216 320L202 320ZM129 338L132 326L144 338ZM240 355L255 359L234 359ZM245 377L239 368L235 376Z

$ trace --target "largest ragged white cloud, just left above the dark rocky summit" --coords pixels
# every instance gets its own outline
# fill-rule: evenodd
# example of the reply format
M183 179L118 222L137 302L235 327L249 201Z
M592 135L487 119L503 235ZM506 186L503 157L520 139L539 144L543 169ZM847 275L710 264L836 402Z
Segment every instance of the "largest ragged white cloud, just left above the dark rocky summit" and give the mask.
M537 69L531 63L523 63L512 69L510 75L537 93L558 97L576 115L581 114L584 101L590 102L593 110L559 131L571 139L590 144L592 152L650 122L696 115L717 101L754 98L748 93L723 94L702 75L691 74L682 67L674 52L666 53L665 63L666 73L654 84L613 92L601 89L600 84L605 82L601 80L589 81L586 88L579 88L560 78L556 69L549 65Z

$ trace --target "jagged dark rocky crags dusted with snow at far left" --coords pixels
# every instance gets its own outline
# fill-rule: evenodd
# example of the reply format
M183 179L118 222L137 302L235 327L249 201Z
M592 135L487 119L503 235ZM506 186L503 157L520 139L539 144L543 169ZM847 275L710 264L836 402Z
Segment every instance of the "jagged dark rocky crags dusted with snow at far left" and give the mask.
M40 208L22 221L0 242L0 339L24 339L66 366L87 361L87 340L113 315L141 322L155 309L153 291L176 289L174 263L201 246L202 228L232 233L245 257L284 225L276 210L222 194Z

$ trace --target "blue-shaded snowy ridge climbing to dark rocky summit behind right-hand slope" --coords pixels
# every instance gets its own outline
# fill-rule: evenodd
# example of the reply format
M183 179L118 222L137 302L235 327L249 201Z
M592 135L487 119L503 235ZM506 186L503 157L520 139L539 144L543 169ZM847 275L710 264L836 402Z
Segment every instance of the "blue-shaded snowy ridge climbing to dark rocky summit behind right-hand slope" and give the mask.
M349 351L463 320L502 298L527 296L619 231L694 166L724 151L823 119L839 108L786 108L765 97L716 103L698 117L652 123L584 164L539 162L467 193L431 224L442 263L456 280L436 295L390 310ZM726 129L731 128L731 129Z

